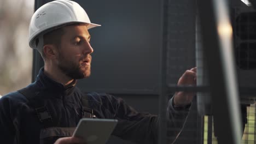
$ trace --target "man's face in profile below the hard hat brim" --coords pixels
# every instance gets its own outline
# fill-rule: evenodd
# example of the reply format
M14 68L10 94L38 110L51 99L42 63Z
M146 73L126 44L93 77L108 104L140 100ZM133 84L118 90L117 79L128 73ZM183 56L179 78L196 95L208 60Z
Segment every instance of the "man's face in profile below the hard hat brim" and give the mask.
M93 49L89 43L90 34L84 25L63 27L58 49L57 67L72 79L83 79L91 74L91 55Z

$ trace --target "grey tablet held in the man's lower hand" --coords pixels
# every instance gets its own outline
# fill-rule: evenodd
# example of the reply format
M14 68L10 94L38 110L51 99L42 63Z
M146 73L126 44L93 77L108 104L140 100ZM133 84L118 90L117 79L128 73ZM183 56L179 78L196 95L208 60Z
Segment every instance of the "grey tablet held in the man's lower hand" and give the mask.
M117 119L82 118L73 136L83 138L87 144L105 144L117 123Z

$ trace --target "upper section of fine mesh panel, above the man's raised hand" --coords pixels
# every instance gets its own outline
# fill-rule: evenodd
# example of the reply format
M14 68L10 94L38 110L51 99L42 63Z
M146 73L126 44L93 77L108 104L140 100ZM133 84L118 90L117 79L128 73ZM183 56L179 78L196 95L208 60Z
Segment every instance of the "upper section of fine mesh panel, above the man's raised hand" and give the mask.
M176 86L195 67L195 1L169 1L167 17L167 85Z

